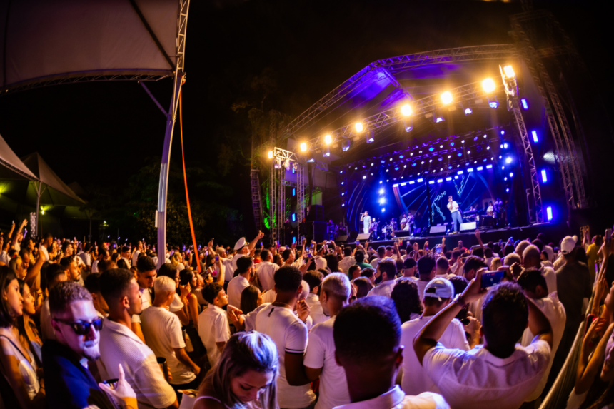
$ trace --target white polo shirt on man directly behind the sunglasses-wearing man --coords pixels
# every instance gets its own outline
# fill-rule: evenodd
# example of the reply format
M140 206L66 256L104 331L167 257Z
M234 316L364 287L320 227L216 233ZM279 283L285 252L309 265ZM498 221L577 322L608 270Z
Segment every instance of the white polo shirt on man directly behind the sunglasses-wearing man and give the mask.
M100 359L96 366L102 379L119 378L118 365L136 393L140 408L168 408L177 395L160 371L156 354L126 325L104 319L100 332Z

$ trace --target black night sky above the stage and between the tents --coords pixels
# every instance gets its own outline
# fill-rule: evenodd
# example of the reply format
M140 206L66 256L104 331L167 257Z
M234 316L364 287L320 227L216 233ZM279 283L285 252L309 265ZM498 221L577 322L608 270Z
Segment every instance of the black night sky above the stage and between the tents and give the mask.
M579 1L536 6L541 7L554 12L577 44L600 86L595 99L611 114L614 87L605 57L610 16L598 4ZM183 88L186 159L216 161L218 141L241 122L230 106L246 96L253 76L266 71L278 83L264 108L295 117L376 59L510 43L508 16L520 11L519 2L191 1ZM163 106L171 82L148 83ZM18 156L38 151L66 183L113 185L141 168L144 158L161 156L165 118L136 82L4 95L0 118L0 134ZM243 142L248 154L248 136ZM178 137L171 163L181 166ZM223 180L235 186L232 200L243 210L250 207L246 163L236 161Z

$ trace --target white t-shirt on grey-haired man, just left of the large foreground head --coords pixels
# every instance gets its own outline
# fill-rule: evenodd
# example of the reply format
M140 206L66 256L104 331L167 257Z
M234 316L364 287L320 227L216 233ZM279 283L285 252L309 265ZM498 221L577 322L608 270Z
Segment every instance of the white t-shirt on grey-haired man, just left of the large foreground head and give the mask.
M331 409L350 403L346 371L343 370L343 366L335 362L334 324L335 317L332 317L311 328L307 352L303 360L303 365L308 368L322 368L320 398L316 403L316 409Z

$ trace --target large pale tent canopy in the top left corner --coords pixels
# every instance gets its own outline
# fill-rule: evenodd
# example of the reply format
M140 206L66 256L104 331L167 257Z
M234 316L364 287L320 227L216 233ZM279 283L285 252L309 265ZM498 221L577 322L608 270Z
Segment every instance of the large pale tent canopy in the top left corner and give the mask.
M180 7L178 0L3 1L1 89L171 76Z

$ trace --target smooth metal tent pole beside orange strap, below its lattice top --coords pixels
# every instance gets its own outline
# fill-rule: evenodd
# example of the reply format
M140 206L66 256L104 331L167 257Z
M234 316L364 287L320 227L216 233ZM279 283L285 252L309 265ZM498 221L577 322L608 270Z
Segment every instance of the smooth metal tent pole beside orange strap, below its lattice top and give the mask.
M183 72L175 71L175 86L173 89L173 99L171 99L171 107L168 108L168 116L166 117L166 133L164 134L164 147L162 150L162 163L160 166L160 185L158 187L158 211L156 212L158 225L158 268L166 261L166 194L168 193L168 166L171 162L171 144L173 143L173 128L175 126L175 118L177 113L177 104L179 101L179 92L181 91L181 83L183 80Z

